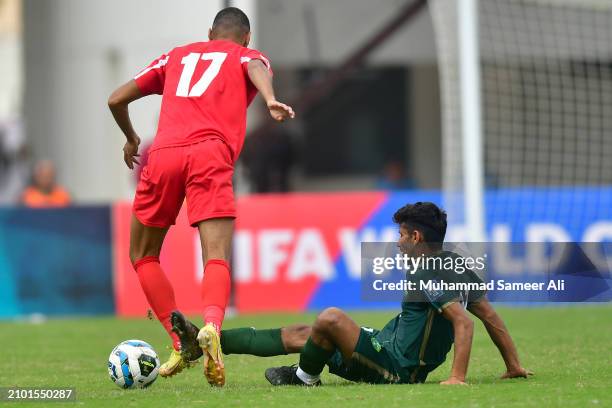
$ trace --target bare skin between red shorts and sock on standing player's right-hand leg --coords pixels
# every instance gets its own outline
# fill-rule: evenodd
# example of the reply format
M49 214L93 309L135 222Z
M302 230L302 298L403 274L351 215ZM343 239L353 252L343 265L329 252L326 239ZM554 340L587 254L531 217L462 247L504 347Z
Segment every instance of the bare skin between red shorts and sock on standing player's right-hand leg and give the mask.
M230 260L234 236L234 218L211 218L198 223L202 258Z

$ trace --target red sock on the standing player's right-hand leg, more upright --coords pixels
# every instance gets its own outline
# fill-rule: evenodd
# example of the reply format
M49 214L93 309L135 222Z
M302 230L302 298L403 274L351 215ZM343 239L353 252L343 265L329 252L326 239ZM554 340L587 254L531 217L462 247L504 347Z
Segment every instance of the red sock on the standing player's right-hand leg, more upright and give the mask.
M217 332L221 331L225 307L229 301L230 287L229 264L221 259L211 259L206 262L202 279L204 324L214 324Z

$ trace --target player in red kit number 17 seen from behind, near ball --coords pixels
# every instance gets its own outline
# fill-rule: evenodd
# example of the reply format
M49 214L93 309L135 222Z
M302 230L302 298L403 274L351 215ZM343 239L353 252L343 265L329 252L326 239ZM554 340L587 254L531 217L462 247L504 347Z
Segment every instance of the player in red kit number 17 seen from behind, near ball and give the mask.
M170 315L177 307L159 254L187 198L189 222L199 230L204 262L204 327L197 335L198 355L204 355L208 382L222 386L219 333L230 294L236 216L232 176L244 142L246 110L259 91L274 120L293 118L294 112L275 99L269 60L247 48L250 23L241 10L221 10L208 36L210 41L174 48L153 61L115 90L108 105L127 138L124 160L133 169L140 138L128 104L146 95L163 95L157 134L136 189L130 259L151 308L173 340L174 350L159 373L174 375L188 367L188 357L196 353L181 353L172 331Z

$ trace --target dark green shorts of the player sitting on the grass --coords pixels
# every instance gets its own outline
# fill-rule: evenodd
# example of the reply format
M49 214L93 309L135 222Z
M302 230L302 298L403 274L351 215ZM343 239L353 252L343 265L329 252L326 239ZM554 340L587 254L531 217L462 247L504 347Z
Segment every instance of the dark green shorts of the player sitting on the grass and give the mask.
M362 327L351 359L345 361L340 351L327 361L329 372L349 381L370 384L401 382L396 365L375 336L378 330Z

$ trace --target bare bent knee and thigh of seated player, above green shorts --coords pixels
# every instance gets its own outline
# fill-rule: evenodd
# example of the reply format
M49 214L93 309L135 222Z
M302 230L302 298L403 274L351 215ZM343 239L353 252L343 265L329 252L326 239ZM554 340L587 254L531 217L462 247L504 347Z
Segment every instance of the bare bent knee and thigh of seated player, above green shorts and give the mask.
M357 346L360 331L359 325L344 311L330 307L317 316L311 337L319 344L331 342L348 359Z

